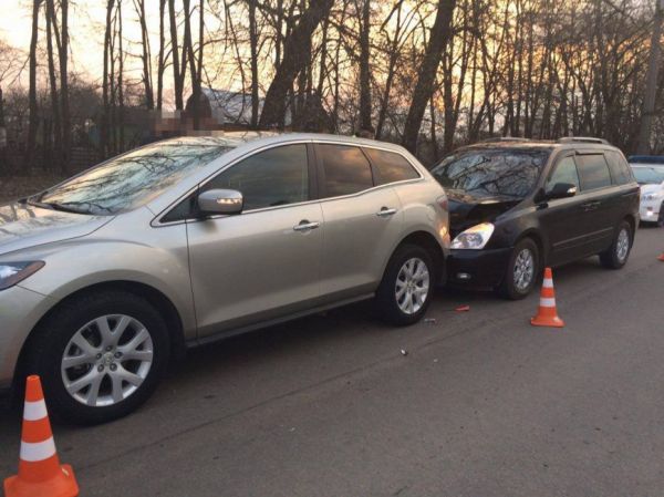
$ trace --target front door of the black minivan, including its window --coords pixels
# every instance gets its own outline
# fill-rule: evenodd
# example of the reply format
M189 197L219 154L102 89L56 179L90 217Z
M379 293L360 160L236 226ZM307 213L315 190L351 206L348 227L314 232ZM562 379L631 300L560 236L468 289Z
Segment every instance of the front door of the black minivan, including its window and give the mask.
M569 183L577 186L578 193L569 198L556 198L540 205L538 210L542 231L549 238L549 259L551 266L561 265L578 258L585 239L583 222L584 203L580 195L580 180L574 162L574 153L568 153L558 158L544 186L544 191L551 190L557 183Z

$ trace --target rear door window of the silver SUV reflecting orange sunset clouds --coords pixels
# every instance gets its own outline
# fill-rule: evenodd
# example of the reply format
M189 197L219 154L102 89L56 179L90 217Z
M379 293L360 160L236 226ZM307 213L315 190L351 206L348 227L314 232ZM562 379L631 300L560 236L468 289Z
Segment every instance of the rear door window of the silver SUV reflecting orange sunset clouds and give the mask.
M371 165L362 151L351 145L319 145L328 197L351 195L373 187Z

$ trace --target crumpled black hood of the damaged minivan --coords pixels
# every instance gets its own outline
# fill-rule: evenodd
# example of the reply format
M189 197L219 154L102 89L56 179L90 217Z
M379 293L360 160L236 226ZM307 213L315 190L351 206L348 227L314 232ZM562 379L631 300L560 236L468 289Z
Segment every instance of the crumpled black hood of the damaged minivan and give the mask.
M445 193L449 204L449 228L453 237L480 222L492 222L522 200L506 196L474 197L460 190Z

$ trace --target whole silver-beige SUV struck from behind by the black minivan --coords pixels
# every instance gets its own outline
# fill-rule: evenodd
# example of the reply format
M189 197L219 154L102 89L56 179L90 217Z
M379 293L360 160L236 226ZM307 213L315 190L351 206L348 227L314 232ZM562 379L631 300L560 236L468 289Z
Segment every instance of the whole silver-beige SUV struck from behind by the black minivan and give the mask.
M411 324L449 247L404 148L228 133L147 145L0 207L0 382L74 423L135 410L191 345L375 298Z

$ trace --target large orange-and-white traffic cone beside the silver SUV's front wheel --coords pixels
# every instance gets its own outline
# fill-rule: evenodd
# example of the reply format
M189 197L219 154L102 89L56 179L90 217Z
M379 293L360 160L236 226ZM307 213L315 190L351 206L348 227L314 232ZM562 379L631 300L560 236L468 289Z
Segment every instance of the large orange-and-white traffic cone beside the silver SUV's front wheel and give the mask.
M19 474L4 480L6 497L76 497L72 467L60 465L39 376L28 376Z

